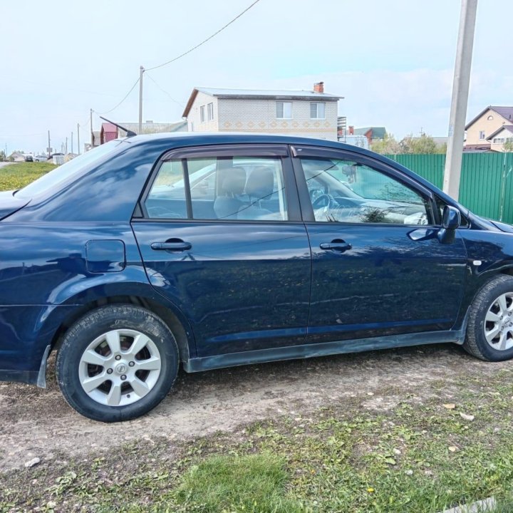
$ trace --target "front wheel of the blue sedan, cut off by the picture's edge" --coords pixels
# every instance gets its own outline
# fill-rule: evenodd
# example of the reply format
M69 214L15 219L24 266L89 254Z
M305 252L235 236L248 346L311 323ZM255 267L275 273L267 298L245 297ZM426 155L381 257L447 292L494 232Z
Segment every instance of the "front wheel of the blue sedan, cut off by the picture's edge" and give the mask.
M513 358L513 276L496 276L477 293L463 348L485 361Z

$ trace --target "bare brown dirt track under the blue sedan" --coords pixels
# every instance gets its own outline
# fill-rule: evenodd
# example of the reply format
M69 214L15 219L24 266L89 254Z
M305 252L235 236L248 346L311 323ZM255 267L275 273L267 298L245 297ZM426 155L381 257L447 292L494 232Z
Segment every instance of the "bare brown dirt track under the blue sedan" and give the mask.
M167 437L182 442L235 430L274 415L307 415L353 398L362 407L393 408L405 395L422 401L435 380L492 374L512 363L485 363L452 345L313 358L205 373L181 372L170 395L150 414L103 424L75 413L62 398L50 369L48 388L0 383L0 471L34 457L62 464L88 452L112 452L125 442Z

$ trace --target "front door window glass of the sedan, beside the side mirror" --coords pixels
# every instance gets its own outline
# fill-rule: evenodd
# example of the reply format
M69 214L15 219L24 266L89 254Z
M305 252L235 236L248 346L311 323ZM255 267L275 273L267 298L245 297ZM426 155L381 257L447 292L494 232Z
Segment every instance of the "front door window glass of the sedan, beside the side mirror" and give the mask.
M301 158L316 221L428 224L429 200L373 167L351 160Z

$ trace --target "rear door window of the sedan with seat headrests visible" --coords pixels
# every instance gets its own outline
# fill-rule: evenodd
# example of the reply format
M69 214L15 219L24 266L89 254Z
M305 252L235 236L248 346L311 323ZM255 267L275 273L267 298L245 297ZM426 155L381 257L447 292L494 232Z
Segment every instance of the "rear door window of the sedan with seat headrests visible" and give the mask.
M202 157L162 162L145 200L152 219L285 221L280 157Z

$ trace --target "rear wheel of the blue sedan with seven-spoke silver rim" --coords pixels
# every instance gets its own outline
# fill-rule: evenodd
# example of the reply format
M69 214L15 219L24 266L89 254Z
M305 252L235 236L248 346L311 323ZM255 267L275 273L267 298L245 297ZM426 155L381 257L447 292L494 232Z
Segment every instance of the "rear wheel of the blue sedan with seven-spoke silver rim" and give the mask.
M145 415L167 395L180 358L167 325L140 306L108 305L67 331L57 382L78 413L105 423Z

